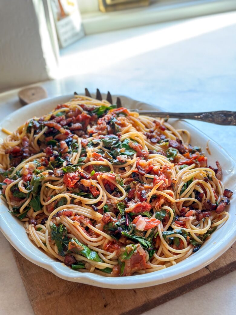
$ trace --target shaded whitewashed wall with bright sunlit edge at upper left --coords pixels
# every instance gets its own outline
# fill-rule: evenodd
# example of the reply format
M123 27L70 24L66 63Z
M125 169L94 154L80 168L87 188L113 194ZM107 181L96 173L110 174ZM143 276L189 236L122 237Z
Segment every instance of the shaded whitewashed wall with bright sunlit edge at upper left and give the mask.
M44 14L38 20L42 9L42 1L38 0L0 1L0 91L51 76L48 65L52 62L54 66L55 57ZM46 55L45 46L49 46Z

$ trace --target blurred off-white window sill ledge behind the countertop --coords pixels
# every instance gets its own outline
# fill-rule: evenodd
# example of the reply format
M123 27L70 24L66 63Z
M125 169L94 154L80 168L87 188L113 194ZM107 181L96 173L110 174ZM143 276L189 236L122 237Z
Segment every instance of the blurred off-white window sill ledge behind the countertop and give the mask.
M146 8L110 13L82 14L86 35L123 28L193 18L201 15L228 12L236 9L234 0L186 0L182 3L155 3Z

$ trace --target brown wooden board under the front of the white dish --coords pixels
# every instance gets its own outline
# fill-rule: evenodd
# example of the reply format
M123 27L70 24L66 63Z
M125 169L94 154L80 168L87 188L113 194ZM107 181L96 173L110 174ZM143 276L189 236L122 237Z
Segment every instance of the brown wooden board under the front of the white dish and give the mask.
M62 280L12 251L36 315L138 315L236 269L234 243L210 265L175 281L143 289L102 289Z

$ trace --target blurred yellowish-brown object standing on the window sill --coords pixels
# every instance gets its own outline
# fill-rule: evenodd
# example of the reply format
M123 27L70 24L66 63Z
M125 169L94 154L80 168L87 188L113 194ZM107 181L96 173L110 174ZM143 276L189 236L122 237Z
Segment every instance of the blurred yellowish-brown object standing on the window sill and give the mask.
M98 0L101 12L111 12L147 6L150 0Z

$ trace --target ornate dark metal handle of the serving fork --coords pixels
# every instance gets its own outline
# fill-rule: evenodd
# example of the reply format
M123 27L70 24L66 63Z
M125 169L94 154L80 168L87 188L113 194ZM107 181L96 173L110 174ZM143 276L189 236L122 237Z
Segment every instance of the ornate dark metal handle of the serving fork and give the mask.
M131 110L132 111L132 110ZM201 120L207 123L215 123L218 125L231 125L236 126L236 112L232 111L216 111L216 112L203 112L203 113L168 113L157 111L139 111L134 110L140 115L148 115L152 117L170 117L182 119Z

